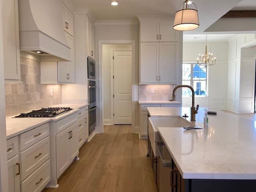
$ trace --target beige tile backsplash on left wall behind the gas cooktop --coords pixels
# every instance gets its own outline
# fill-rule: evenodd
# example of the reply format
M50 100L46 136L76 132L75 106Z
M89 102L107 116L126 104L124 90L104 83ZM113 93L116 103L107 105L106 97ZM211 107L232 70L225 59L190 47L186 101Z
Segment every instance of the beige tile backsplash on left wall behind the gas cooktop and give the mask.
M20 71L22 83L5 84L6 117L61 103L61 85L40 84L40 62L21 57Z

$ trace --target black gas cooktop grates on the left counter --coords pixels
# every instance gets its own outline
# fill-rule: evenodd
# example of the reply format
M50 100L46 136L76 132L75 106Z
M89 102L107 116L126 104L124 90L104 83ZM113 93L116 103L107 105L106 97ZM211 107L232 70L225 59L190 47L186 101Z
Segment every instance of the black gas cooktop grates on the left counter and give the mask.
M18 116L15 117L56 117L58 115L64 114L68 111L72 110L70 107L48 107L48 108L42 108L39 110L32 110L31 112L28 113L21 113Z

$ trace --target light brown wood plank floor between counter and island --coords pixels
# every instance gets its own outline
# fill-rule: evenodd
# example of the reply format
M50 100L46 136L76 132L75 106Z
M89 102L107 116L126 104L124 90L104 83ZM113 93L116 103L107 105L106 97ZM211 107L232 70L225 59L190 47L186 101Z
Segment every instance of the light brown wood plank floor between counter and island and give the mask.
M129 125L104 126L80 148L60 186L43 192L157 192L146 144Z

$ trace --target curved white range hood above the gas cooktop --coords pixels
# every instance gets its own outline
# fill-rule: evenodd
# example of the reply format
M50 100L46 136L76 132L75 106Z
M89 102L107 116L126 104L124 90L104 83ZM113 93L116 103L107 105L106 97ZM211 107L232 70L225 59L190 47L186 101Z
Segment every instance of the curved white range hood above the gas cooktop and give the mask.
M19 0L20 50L71 60L61 0Z

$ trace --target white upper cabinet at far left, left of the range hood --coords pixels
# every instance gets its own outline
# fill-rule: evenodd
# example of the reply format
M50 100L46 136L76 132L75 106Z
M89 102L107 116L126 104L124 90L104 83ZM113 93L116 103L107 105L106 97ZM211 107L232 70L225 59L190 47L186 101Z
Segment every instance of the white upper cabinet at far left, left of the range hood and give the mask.
M7 81L20 80L20 42L18 21L18 0L2 1L4 78Z

